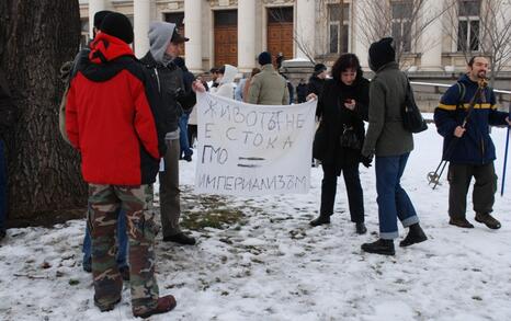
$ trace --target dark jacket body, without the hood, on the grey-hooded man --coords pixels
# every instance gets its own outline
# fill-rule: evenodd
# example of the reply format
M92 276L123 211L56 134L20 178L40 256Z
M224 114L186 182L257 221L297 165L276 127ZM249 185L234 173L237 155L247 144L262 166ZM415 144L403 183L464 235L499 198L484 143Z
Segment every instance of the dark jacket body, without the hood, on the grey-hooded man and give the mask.
M173 62L168 66L157 62L150 51L140 59L140 62L147 68L151 87L156 88L159 94L158 102L161 104L159 110L162 112L161 122L164 131L178 130L178 119L183 113L179 100L185 94L183 71Z

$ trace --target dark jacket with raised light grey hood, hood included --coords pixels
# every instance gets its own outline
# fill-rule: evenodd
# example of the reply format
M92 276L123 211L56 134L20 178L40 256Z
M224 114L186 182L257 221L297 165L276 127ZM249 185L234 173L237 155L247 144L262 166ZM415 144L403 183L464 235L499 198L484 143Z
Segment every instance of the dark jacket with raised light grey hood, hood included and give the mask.
M183 71L164 51L169 46L175 24L168 22L155 22L149 26L150 49L140 59L150 76L151 88L158 95L158 110L162 113L161 123L167 139L179 138L178 119L183 110L180 105L195 104L195 93L185 91Z

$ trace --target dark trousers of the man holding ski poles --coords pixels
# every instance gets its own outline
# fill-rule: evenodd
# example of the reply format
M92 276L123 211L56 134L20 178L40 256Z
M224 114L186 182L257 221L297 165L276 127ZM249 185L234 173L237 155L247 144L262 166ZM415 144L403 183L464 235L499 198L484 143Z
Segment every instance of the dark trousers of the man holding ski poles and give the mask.
M497 192L497 175L493 162L484 165L453 164L448 165L448 215L464 218L467 210L467 193L472 177L475 177L472 198L476 213L493 210L495 193Z

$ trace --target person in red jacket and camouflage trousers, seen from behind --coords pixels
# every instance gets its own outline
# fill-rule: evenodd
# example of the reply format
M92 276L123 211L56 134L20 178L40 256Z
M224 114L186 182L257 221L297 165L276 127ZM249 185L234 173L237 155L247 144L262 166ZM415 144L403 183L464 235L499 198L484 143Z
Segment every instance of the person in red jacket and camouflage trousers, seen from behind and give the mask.
M66 103L66 131L81 153L89 184L94 305L110 311L121 301L123 280L115 263L117 211L126 211L129 236L132 310L148 318L175 307L159 297L154 241L158 231L148 210L164 145L158 135L148 74L129 47L129 19L110 13L77 65Z

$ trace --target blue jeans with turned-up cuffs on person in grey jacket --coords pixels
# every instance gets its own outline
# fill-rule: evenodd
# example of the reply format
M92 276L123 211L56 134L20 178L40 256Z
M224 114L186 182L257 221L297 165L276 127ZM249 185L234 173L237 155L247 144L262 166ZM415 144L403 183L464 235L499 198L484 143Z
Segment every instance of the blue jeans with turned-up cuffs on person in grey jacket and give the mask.
M376 157L376 202L382 239L393 240L399 237L398 218L404 227L419 222L413 204L400 185L409 156L408 152L393 157Z

